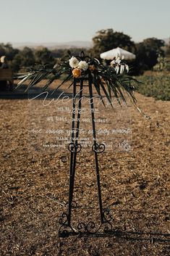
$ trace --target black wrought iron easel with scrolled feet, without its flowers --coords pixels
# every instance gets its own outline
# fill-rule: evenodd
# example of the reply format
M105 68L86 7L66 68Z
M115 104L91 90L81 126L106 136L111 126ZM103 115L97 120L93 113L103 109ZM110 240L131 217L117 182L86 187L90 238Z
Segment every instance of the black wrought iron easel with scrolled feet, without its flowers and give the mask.
M69 234L96 234L98 232L111 232L111 215L108 209L103 209L102 197L101 197L101 183L100 183L100 173L98 167L98 154L101 154L105 151L104 144L98 144L95 134L95 112L94 112L94 102L93 102L93 87L92 87L92 75L88 73L88 88L90 95L90 112L91 112L91 121L93 128L93 146L92 150L95 156L95 172L98 185L98 204L100 209L101 223L96 226L93 221L88 223L77 223L77 230L72 227L72 207L73 207L73 192L74 192L74 183L75 183L75 170L76 170L76 160L77 154L81 151L82 146L78 143L79 139L79 129L80 129L80 115L82 109L82 91L83 83L87 78L74 78L73 83L73 93L72 93L72 141L68 146L70 152L70 164L69 164L69 204L68 212L63 212L61 218L59 219L59 236L69 236ZM77 95L77 86L80 83L80 91L78 97L78 107L76 113L76 95ZM77 122L75 122L77 120Z

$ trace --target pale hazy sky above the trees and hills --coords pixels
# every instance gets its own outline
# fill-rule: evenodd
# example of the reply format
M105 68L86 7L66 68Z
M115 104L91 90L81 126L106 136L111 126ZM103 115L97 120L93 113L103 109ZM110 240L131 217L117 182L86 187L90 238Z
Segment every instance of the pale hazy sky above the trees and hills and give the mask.
M91 41L113 28L133 41L169 38L170 0L0 0L0 43Z

